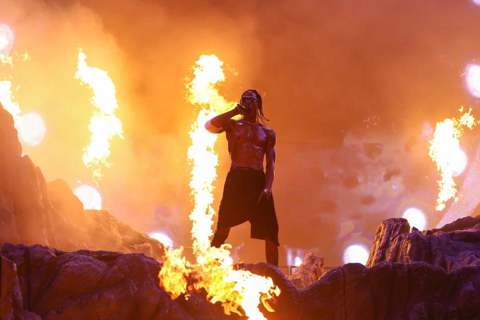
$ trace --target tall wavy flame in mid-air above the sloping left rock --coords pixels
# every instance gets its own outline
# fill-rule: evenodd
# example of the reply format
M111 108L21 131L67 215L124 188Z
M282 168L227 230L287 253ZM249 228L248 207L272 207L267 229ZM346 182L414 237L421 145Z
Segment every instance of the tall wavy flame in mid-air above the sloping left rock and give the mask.
M86 64L86 55L78 48L78 64L75 79L86 83L93 91L91 104L97 108L90 118L88 129L91 132L90 144L83 148L83 164L92 170L92 178L97 181L103 176L101 169L109 167L110 139L118 135L123 138L121 121L115 116L118 103L115 85L106 71Z

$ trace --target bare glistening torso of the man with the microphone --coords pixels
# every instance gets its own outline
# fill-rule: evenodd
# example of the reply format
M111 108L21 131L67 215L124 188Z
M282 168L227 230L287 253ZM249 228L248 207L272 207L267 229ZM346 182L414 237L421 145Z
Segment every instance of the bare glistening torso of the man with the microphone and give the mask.
M272 138L273 130L260 124L250 124L242 119L231 120L226 131L231 166L263 169L263 155Z

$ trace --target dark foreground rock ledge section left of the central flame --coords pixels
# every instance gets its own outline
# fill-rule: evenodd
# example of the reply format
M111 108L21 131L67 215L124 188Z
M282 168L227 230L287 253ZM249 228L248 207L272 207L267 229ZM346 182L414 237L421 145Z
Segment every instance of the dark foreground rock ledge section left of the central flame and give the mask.
M220 306L198 296L189 302L191 313L171 300L158 287L160 264L143 254L6 243L1 259L1 319L226 317Z

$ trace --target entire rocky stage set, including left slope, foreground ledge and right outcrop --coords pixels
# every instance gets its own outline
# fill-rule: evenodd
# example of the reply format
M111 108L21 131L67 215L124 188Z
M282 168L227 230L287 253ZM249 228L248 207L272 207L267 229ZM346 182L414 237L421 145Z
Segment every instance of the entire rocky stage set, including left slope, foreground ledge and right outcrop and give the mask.
M176 300L159 286L163 248L104 210L83 210L66 182L47 183L0 107L0 318L226 319L205 292ZM22 244L20 244L22 243ZM285 277L267 263L281 293L268 319L480 319L480 216L440 229L381 222L367 265L323 273L307 254Z

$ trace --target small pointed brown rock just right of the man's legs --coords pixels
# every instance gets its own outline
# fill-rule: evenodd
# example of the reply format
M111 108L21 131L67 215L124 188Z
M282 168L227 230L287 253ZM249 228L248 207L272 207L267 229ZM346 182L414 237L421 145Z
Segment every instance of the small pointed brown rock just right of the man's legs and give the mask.
M318 280L323 273L323 257L316 256L312 252L305 254L303 261L288 276L288 280L297 288L304 288Z

